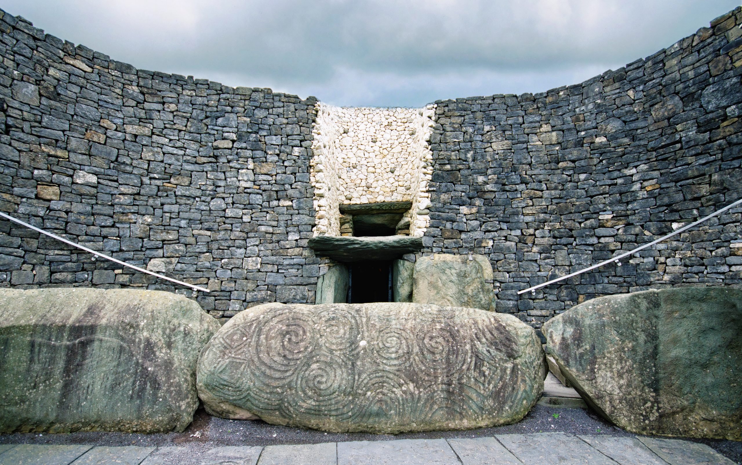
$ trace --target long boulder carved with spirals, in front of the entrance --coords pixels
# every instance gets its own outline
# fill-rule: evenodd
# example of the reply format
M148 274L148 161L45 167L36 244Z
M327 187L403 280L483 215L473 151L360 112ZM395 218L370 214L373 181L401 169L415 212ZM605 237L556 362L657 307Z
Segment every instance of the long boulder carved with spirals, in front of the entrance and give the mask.
M268 303L209 341L197 386L207 412L224 418L395 434L514 423L544 377L539 338L512 315Z

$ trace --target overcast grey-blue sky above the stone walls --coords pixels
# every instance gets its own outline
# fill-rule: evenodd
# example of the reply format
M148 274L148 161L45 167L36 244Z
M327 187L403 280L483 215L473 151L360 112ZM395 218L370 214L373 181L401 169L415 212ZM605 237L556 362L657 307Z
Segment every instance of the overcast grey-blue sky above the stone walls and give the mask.
M343 106L577 84L741 0L3 0L47 33L146 70Z

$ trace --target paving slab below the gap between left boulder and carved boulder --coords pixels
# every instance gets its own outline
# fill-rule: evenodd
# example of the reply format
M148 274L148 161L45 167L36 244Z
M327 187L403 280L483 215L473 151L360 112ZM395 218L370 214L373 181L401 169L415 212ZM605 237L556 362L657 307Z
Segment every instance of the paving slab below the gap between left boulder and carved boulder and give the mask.
M255 465L262 446L223 446L206 452L188 446L160 447L141 465Z

